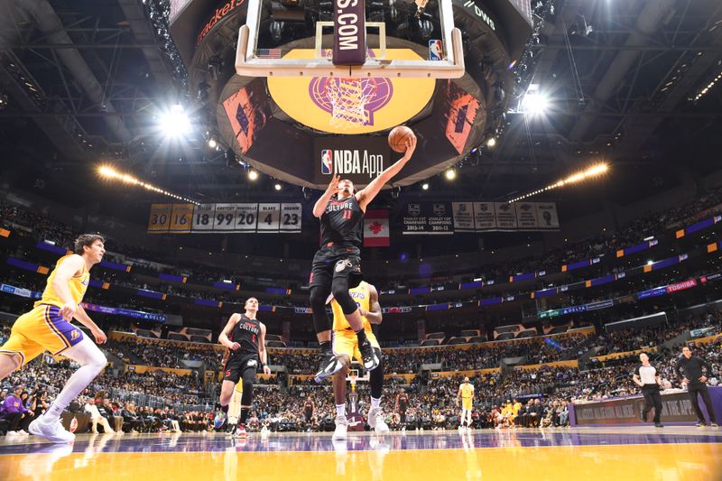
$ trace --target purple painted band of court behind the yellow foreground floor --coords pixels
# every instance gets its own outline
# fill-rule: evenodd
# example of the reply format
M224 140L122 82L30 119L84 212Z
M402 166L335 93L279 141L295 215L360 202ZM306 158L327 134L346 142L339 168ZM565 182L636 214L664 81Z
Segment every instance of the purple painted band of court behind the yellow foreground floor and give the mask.
M673 428L672 428L673 429ZM368 433L349 435L346 441L340 441L340 447L349 451L374 450L379 445L388 449L468 449L484 448L544 448L562 446L605 446L605 445L646 445L677 443L719 443L722 442L722 430L684 430L675 432L608 432L578 430L504 430L474 431L460 434L457 431L393 432L376 437ZM182 434L182 435L99 435L89 437L81 435L73 444L74 452L87 449L97 452L213 452L236 449L237 451L334 451L339 442L332 441L329 434L318 433L282 433L262 437L252 434L248 439L230 439L220 434ZM52 450L51 445L41 442L24 444L0 444L0 457L4 454L39 453ZM66 448L67 449L67 448Z

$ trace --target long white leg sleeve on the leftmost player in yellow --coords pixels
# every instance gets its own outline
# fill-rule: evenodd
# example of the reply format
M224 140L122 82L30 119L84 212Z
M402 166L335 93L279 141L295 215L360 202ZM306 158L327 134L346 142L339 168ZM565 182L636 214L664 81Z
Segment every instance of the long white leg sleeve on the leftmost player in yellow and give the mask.
M70 347L62 353L80 365L80 368L73 373L65 383L58 397L51 403L51 407L43 414L45 421L58 421L60 414L68 407L73 399L83 391L100 371L106 366L106 356L97 348L93 341L83 339L79 344Z

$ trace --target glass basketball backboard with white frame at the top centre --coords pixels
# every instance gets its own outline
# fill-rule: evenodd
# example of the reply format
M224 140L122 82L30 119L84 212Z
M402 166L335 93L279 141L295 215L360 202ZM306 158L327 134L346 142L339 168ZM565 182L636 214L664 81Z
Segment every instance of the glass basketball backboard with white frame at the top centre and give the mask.
M407 23L424 28L433 19L440 28L431 28L428 53L407 58L391 54L386 37L386 22L366 22L364 0L332 0L328 2L336 14L329 12L325 17L333 21L315 22L315 38L307 39L303 45L304 55L292 55L289 45L267 48L259 45L261 28L268 28L276 38L281 37L287 23L304 21L304 10L299 0L287 0L283 5L268 0L248 0L246 23L238 32L236 47L236 73L246 77L310 77L310 78L408 78L408 79L458 79L464 75L464 56L461 44L461 32L454 27L451 0L438 0L438 13L424 13L426 1L391 0L392 9L408 17ZM397 5L397 6L393 6ZM264 12L275 8L277 16L269 23ZM295 8L296 10L292 10ZM289 17L297 12L298 18ZM392 10L392 12L394 12ZM414 14L415 12L415 14ZM272 14L273 15L273 14ZM284 16L286 15L286 16ZM392 13L393 15L393 13ZM288 20L276 20L286 18ZM323 18L323 16L322 16ZM265 22L264 22L265 20ZM298 42L292 42L298 46ZM370 43L373 43L370 44ZM422 49L423 50L423 49ZM312 53L312 54L311 54ZM347 86L349 87L349 86ZM334 88L330 86L330 88ZM360 96L370 96L364 92L366 86L357 85ZM344 97L341 93L340 97ZM340 110L344 110L341 106ZM353 111L344 115L354 116Z

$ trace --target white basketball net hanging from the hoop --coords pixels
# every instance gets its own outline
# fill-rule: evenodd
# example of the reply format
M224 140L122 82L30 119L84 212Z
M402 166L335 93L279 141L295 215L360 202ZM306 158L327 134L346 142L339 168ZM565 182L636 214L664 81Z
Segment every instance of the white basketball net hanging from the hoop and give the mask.
M350 128L368 125L368 101L376 93L375 79L329 79L326 92L332 106L330 125Z

